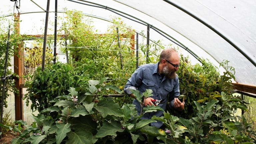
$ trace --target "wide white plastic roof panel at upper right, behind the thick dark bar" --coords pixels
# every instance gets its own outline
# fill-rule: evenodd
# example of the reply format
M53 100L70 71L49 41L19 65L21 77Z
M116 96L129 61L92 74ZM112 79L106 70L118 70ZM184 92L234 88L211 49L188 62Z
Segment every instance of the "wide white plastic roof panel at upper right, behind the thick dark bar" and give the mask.
M218 62L229 60L238 83L256 85L256 67L243 54L211 29L164 1L116 0L133 7L174 29L205 50ZM256 61L256 1L179 0L169 1L196 15ZM190 47L189 47L190 48ZM193 49L193 48L190 48ZM198 54L198 52L195 52ZM198 54L200 56L200 54Z

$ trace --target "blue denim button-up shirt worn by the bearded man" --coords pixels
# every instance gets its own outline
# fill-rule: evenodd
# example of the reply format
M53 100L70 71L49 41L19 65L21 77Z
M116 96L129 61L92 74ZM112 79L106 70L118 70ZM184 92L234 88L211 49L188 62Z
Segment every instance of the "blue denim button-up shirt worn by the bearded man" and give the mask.
M151 89L153 91L153 99L162 100L159 106L165 110L167 101L169 100L173 105L173 100L175 97L180 95L179 90L179 79L176 76L175 79L166 79L157 72L158 71L158 63L156 64L145 64L139 66L135 72L132 74L131 78L128 79L124 92L127 94L131 94L130 89L139 90L142 94L146 91L146 89ZM169 94L169 96L168 96ZM141 106L140 103L134 99L133 104L135 105L138 115L140 115ZM144 106L143 106L144 107ZM145 113L141 119L151 119L152 116L163 115L162 111ZM151 126L155 126L160 128L163 125L162 122L157 121L151 123Z

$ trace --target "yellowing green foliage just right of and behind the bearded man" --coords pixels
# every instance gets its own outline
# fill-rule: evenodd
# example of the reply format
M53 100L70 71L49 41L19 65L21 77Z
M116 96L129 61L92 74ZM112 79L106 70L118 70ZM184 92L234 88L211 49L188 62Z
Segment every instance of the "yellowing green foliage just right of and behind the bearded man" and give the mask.
M180 93L185 95L185 109L182 113L175 113L184 118L192 118L196 115L194 111L195 104L219 100L223 102L221 92L231 94L231 78L234 77L234 69L227 66L227 61L221 63L227 71L220 75L218 68L207 60L201 59L202 64L191 65L191 63L181 56L181 66L177 71L180 81ZM225 63L225 64L224 64ZM228 71L231 70L231 71ZM242 102L243 103L243 102Z

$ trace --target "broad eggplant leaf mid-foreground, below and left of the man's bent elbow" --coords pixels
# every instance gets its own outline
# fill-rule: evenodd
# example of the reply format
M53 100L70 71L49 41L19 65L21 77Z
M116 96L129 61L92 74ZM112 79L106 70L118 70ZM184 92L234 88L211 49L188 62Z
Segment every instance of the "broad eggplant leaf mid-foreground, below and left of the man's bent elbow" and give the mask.
M123 112L119 108L119 105L113 101L112 97L107 97L101 100L95 109L101 112L102 117L106 117L107 115L114 115L117 117L123 116Z

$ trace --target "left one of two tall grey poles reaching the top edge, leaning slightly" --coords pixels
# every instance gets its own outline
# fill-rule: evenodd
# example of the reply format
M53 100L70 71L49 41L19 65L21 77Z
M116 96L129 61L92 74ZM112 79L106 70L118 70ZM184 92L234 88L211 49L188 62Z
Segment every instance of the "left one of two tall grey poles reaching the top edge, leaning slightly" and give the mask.
M50 7L50 0L47 0L47 8L46 8L46 16L45 16L45 27L44 27L42 71L44 71L44 64L45 64L45 50L46 50L46 37L47 37L47 27L48 27L48 18L49 18L49 7Z

